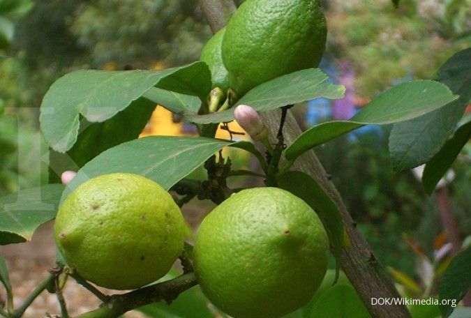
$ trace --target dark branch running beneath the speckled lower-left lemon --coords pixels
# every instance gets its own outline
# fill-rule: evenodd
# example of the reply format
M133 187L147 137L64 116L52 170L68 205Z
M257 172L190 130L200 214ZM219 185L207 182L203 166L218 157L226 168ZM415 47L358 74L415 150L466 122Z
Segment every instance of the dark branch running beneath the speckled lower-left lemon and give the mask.
M110 318L119 317L129 310L155 303L157 301L172 302L179 294L197 285L195 274L186 273L173 280L159 282L148 287L136 289L126 294L112 295L110 300L100 308L86 312L77 318Z

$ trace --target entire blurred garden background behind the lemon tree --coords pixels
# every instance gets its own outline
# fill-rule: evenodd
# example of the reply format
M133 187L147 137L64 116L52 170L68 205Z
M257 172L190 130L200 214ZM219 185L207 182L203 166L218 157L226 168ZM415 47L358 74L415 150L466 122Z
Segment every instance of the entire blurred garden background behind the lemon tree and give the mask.
M398 8L389 0L322 2L329 36L320 68L347 93L343 100L295 107L304 129L349 119L391 85L433 79L444 61L471 44L470 0L402 0ZM18 168L38 160L31 152L19 165L18 150L47 151L38 135L38 107L52 82L80 68L157 70L190 63L210 37L195 0L0 0L0 196L47 182L47 168ZM142 135L194 133L191 124L157 107ZM367 126L315 151L398 287L416 296L436 294L434 282L449 260L443 215L454 219L460 243L471 243L471 145L458 156L440 193L427 196L411 171L392 172L388 135L388 128ZM254 165L239 152L227 155L235 165ZM202 174L195 172L195 178ZM239 186L254 182L260 181L236 181ZM190 202L185 212L190 224L196 227L211 207ZM34 259L20 259L13 252L19 246L0 250L7 259L10 253L14 285L39 279L42 274L35 271L54 262L54 256L47 259L55 251L50 229L39 232L45 236L33 243L43 242L44 253L41 248L36 256L26 253Z

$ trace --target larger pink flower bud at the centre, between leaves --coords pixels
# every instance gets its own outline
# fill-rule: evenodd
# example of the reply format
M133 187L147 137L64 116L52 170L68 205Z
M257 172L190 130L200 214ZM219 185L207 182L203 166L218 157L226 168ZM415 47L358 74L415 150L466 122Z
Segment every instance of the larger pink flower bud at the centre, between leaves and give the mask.
M267 126L262 122L260 115L248 105L239 105L234 109L234 117L237 123L252 137L258 141L268 136Z

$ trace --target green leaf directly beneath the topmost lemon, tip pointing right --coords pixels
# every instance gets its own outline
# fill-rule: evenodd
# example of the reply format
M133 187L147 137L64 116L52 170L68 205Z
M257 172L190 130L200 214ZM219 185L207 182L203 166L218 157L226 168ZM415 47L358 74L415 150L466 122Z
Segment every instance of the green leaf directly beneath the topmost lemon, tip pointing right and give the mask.
M327 79L327 75L318 68L299 70L260 84L246 93L234 107L246 104L251 105L258 112L268 112L278 107L315 98L343 98L345 87L331 84L327 82ZM194 123L232 121L234 119L234 109L206 115L188 115L186 118Z

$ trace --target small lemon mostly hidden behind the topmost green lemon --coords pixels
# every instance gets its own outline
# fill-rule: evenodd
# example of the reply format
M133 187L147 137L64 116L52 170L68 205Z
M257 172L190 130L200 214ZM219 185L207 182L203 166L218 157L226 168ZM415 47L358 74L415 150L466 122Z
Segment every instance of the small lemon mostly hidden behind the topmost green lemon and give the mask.
M223 91L229 89L229 73L225 69L223 56L221 55L221 45L225 28L220 29L209 41L204 45L201 52L200 60L207 63L211 71L211 79L213 88L219 87Z

